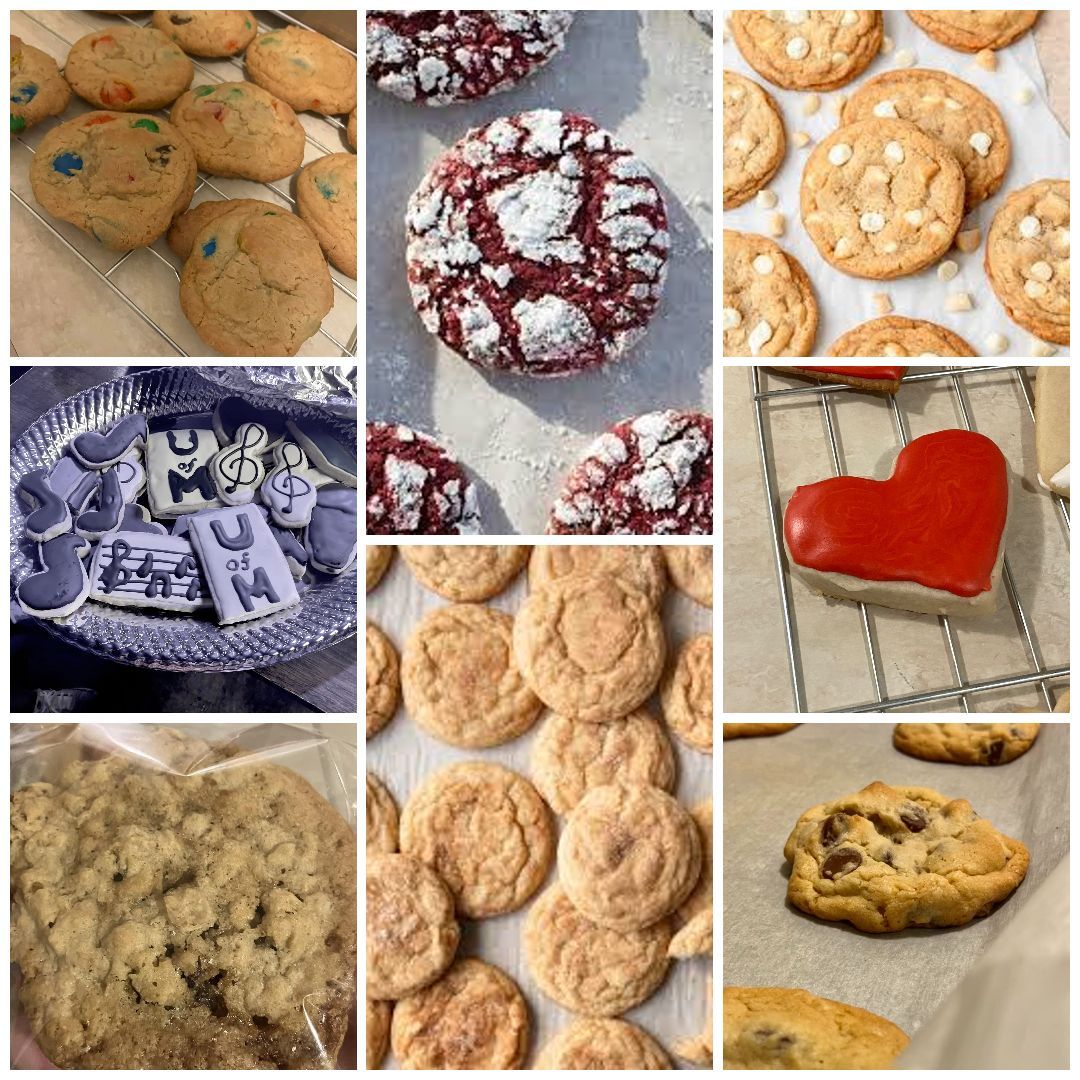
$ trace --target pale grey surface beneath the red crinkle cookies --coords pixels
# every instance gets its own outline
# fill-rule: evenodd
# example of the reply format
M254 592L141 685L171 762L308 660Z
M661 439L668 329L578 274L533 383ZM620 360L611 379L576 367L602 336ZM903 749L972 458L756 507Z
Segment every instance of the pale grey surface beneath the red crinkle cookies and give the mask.
M367 87L367 416L438 438L477 482L486 532L542 532L563 474L623 417L712 411L712 67L688 12L586 11L565 51L508 93L420 108ZM663 192L672 239L645 338L565 379L482 373L423 328L405 280L405 204L432 161L468 129L536 108L582 112L626 143Z

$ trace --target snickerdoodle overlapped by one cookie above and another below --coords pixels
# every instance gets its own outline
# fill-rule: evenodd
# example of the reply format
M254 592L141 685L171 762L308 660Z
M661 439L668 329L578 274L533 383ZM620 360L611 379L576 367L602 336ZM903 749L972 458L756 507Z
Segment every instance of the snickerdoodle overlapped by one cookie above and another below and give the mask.
M613 783L670 792L675 755L663 728L644 710L589 724L549 715L532 742L532 782L555 813L569 813L585 793Z

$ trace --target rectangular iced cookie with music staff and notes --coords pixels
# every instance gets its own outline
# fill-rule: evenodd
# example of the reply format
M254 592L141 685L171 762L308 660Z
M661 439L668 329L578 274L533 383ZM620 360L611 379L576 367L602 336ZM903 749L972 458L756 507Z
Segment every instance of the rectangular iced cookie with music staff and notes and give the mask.
M116 607L195 611L212 603L191 544L180 537L110 532L94 553L90 580L91 598Z

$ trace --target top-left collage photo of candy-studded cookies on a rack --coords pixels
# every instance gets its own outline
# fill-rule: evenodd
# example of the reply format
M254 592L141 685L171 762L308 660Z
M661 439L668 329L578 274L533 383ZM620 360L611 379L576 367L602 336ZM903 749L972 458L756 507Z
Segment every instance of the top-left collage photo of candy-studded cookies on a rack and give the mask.
M11 12L13 356L356 356L356 10Z

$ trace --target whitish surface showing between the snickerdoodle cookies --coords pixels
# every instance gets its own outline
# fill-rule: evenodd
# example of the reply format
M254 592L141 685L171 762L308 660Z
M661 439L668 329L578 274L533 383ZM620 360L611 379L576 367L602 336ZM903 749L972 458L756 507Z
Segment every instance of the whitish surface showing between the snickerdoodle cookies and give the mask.
M523 570L517 580L500 596L488 600L488 605L513 613L525 598L525 583L526 571ZM400 654L408 634L422 616L447 603L417 583L408 566L395 554L386 577L367 596L367 618L390 637ZM663 605L669 646L674 648L693 634L711 630L711 615L707 608L700 607L670 586ZM656 694L645 707L658 720L662 719L663 713ZM404 706L399 706L387 727L367 741L365 766L387 785L399 809L424 778L457 761L491 761L530 779L529 754L541 720L542 716L529 731L502 746L458 750L429 735L413 723ZM708 798L712 795L712 757L690 750L674 737L671 737L671 743L676 757L675 796L687 807ZM553 821L556 825L563 823L563 819L554 815ZM457 955L475 956L497 964L514 980L528 1003L531 1036L526 1067L531 1065L540 1048L573 1018L571 1013L541 993L528 972L522 951L525 916L555 880L557 870L552 865L543 886L518 910L494 919L461 920L461 944ZM679 1068L690 1066L674 1055L672 1047L679 1039L698 1035L703 1028L705 982L711 972L712 957L673 960L656 994L623 1017L652 1035ZM388 1054L382 1068L395 1067L392 1055Z

